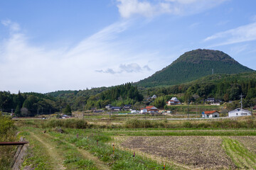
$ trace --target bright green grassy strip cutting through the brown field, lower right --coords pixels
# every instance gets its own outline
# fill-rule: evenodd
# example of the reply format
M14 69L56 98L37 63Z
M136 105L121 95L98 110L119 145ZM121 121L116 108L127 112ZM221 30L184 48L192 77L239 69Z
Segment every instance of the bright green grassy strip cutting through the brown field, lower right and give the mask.
M256 169L256 154L250 152L240 142L223 137L223 147L239 169Z

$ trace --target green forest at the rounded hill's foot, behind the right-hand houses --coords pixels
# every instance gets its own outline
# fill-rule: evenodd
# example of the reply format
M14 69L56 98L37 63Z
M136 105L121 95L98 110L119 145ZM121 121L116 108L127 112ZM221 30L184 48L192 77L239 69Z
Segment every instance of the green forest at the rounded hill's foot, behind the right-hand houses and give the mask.
M206 98L223 102L240 99L244 96L245 107L256 105L256 74L214 74L188 84L162 86L144 89L144 94L156 94L155 106L164 107L164 101L177 96L181 102L203 103Z

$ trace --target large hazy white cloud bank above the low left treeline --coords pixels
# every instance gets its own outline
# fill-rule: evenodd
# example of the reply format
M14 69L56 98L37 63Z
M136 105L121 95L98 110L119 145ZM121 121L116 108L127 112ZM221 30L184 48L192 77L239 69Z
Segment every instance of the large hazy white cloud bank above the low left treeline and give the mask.
M10 23L4 24L9 26ZM0 42L0 77L4 80L0 89L48 92L113 86L144 79L153 71L139 65L145 64L145 56L155 58L155 55L140 52L134 55L135 52L127 50L132 49L129 43L117 37L128 27L128 21L114 23L74 47L58 49L32 45L27 35L10 30L10 37ZM108 67L122 72L113 74L114 69ZM136 72L138 68L143 72ZM95 70L106 70L112 74Z

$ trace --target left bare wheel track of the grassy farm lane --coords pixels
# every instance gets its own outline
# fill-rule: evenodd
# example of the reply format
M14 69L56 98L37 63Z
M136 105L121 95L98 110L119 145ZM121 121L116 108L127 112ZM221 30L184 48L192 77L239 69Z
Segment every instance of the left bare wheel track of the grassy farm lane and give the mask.
M51 162L53 169L65 169L63 166L64 158L58 154L58 152L55 149L55 146L50 145L50 142L43 139L42 135L36 135L33 132L30 132L32 137L38 140L38 142L41 142L42 146L46 149L46 152L48 153L48 156L50 157L50 160L54 160L54 162Z

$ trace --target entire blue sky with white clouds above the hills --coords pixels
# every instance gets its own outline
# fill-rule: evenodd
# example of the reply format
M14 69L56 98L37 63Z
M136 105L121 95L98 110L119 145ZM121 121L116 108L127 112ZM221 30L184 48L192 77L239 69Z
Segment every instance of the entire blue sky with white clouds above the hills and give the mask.
M139 81L184 52L221 50L256 69L256 1L0 1L1 91Z

